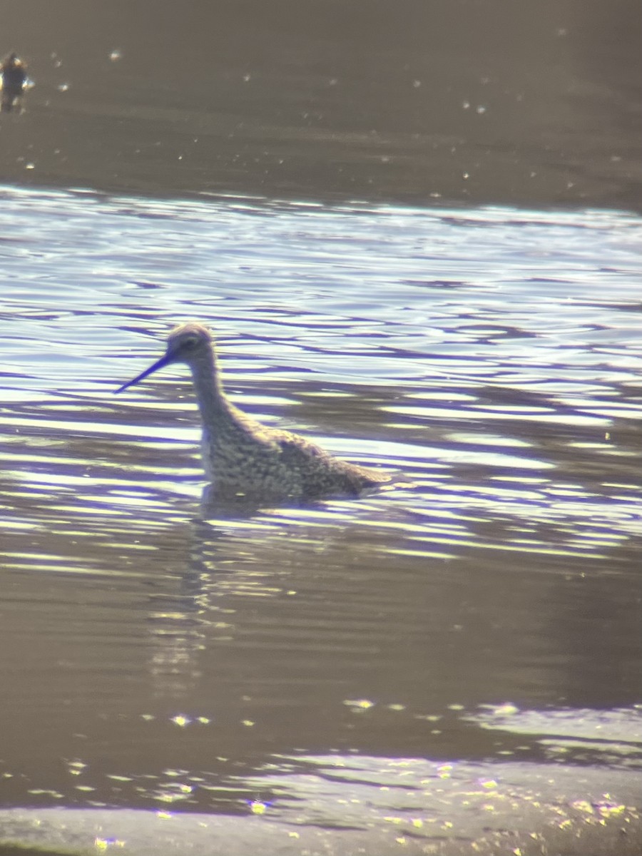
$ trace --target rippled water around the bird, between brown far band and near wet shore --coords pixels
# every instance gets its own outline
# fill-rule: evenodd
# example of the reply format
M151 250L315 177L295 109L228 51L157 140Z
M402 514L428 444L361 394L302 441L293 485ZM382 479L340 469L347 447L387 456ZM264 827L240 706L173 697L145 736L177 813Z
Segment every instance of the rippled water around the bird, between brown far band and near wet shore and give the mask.
M1 196L3 805L412 827L431 782L629 781L639 217ZM406 481L201 502L187 372L112 395L187 318L240 407Z

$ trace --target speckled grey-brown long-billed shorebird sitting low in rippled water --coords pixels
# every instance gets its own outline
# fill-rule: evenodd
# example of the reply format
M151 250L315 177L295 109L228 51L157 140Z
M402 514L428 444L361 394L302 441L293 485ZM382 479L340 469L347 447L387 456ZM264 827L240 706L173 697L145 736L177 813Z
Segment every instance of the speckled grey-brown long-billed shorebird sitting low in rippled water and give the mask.
M116 392L176 362L187 363L192 372L203 422L203 466L216 495L360 496L391 481L388 473L340 461L305 437L261 425L235 407L223 389L214 340L203 324L171 330L164 356Z

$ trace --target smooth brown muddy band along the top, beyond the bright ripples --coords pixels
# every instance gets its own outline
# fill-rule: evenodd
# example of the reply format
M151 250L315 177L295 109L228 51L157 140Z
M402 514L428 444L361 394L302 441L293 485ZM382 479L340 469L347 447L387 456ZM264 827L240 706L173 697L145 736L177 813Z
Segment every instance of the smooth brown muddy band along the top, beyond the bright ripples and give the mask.
M639 211L637 0L0 4L35 187Z

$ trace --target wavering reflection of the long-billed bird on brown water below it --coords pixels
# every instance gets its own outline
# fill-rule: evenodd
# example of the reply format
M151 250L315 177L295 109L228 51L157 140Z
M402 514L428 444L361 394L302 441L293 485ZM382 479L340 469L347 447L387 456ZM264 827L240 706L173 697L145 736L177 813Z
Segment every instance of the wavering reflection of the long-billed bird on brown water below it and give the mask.
M157 698L186 698L198 687L203 657L235 639L239 596L282 593L274 574L266 571L266 562L269 566L270 551L276 550L279 567L288 563L280 552L283 519L289 513L295 518L298 512L306 517L324 510L334 516L324 500L230 498L211 484L205 487L199 511L187 524L180 564L169 568L174 591L153 591L149 596L147 627L153 640L149 669Z

